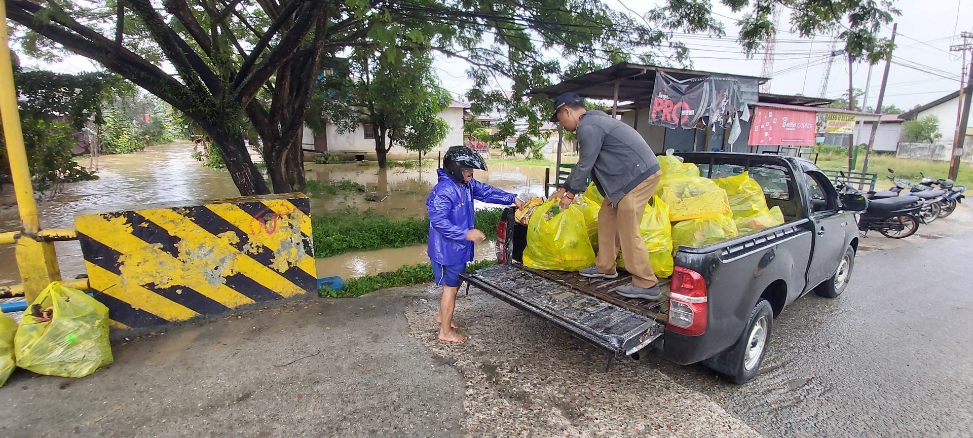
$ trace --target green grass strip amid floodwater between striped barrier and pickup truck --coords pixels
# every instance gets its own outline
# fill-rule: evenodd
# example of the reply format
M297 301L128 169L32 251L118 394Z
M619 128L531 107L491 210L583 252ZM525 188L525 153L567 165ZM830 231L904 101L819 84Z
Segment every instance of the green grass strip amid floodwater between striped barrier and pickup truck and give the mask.
M474 226L486 237L496 236L502 209L479 210ZM348 209L314 215L311 219L314 257L331 257L349 251L401 248L425 243L429 238L429 218L390 220L371 210Z

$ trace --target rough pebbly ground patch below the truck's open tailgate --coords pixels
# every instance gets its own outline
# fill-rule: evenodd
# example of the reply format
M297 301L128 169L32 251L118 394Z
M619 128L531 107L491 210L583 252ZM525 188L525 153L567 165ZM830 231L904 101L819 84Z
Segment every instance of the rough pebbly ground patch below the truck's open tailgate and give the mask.
M441 343L429 317L437 306L416 300L406 318L434 362L454 360L466 384L464 436L760 436L646 364L620 360L605 373L600 350L480 291L456 306L470 341Z

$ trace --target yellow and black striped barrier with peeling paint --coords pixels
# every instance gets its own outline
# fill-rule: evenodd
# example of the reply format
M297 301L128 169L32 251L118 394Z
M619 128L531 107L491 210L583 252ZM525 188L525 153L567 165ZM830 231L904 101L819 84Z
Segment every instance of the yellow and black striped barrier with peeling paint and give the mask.
M302 194L75 217L91 289L119 327L317 291Z

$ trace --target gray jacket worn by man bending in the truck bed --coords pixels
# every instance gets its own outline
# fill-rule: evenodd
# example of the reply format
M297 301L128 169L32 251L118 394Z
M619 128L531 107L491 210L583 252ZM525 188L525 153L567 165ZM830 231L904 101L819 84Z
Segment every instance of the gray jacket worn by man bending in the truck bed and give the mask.
M602 111L588 111L581 116L575 135L578 137L578 165L564 181L571 193L583 192L588 175L595 186L613 205L631 189L659 171L659 160L642 135L634 128Z

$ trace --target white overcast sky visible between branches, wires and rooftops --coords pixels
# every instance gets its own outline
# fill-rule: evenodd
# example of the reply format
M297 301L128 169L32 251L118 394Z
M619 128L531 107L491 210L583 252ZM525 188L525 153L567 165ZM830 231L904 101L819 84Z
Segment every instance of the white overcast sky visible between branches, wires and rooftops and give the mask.
M626 9L626 6L628 6L638 14L645 13L653 5L659 3L659 0L605 1L610 7L619 11L628 12ZM930 74L892 64L888 75L885 104L894 104L899 108L908 110L917 104L927 103L958 90L961 61L958 54L951 54L949 50L951 45L959 42L955 35L958 35L960 31L973 31L973 0L897 0L895 5L902 10L902 15L895 18L899 24L895 60L905 64L919 65L924 70L936 73ZM729 8L721 5L715 6L713 12L717 15L717 18L724 22L726 37L723 39L705 39L702 37L680 39L690 48L693 67L703 71L761 76L763 69L762 55L747 59L742 55L739 45L735 42L738 32L735 22L741 14L734 14ZM771 83L771 92L819 95L827 65L828 56L826 54L830 49L827 40L831 40L831 37L818 36L813 40L801 38L788 32L790 26L786 13L781 16L780 21L781 31L778 33L773 68L776 74L771 75L774 78ZM891 35L890 25L883 29L883 35ZM841 46L842 44L839 43L839 49L841 49ZM834 60L825 94L828 98L847 95L847 59L844 56L836 56ZM967 59L967 62L969 62L969 59ZM462 99L461 96L469 89L471 84L466 78L467 64L465 61L440 57L435 65L443 86L453 92L456 98ZM73 56L54 65L38 66L69 72L99 69L96 64L80 56ZM875 106L878 100L883 67L884 62L880 62L874 67L867 105ZM856 65L852 69L855 88L865 88L867 72L868 66L864 64ZM953 79L946 79L941 76ZM501 84L501 86L503 85Z

